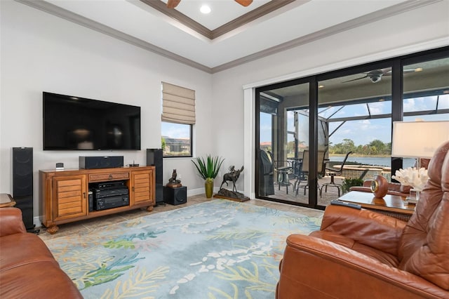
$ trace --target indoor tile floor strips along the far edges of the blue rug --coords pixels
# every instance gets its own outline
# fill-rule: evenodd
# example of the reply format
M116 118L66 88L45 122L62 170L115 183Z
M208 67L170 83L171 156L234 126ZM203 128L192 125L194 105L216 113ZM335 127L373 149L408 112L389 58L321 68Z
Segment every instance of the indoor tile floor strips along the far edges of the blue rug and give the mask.
M56 234L49 234L48 232L46 232L45 227L41 227L39 237L41 237L41 239L45 240L45 239L52 239L52 238L67 236L68 234L77 234L79 232L93 230L95 228L102 227L105 225L111 225L113 223L142 217L143 215L148 215L149 213L159 213L159 212L163 212L163 211L170 211L175 208L183 208L185 206L192 206L194 204L199 204L201 202L210 201L213 199L214 198L207 199L206 196L204 196L204 195L195 195L192 197L188 197L186 204L180 204L177 206L173 206L170 204L166 204L166 206L159 205L159 206L155 206L154 210L152 212L148 212L145 209L136 209L133 211L126 211L123 213L106 215L106 216L103 216L100 218L93 218L93 219L89 219L89 220L82 220L82 221L78 221L78 222L67 223L64 225L58 225L59 230L58 230L58 232L56 232ZM309 215L312 217L319 216L323 213L323 211L315 210L312 208L292 206L289 204L280 204L280 203L275 203L272 201L264 201L261 199L251 199L249 201L245 201L244 204L253 204L255 206L276 208L280 211L291 211L291 212L300 213L303 215Z

